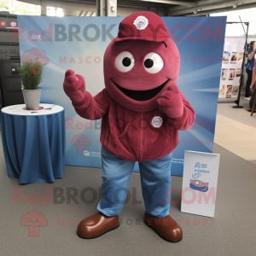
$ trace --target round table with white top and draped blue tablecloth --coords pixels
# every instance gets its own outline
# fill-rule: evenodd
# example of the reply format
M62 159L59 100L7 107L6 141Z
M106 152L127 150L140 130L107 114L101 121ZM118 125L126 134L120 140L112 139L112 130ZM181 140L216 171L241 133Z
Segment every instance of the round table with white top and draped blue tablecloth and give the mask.
M65 168L65 112L54 104L1 110L3 152L9 177L20 183L54 182Z

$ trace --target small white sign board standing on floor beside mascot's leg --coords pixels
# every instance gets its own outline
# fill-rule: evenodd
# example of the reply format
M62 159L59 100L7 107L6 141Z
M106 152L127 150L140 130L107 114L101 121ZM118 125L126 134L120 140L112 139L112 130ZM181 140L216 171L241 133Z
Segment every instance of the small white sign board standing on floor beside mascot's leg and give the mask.
M219 154L185 151L182 212L214 217Z

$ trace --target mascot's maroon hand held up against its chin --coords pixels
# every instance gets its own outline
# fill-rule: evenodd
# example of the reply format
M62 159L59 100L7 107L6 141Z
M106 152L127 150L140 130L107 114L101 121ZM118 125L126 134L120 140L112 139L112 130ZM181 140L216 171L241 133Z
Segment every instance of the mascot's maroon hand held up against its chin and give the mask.
M183 99L176 84L170 84L157 99L158 108L172 119L183 115Z

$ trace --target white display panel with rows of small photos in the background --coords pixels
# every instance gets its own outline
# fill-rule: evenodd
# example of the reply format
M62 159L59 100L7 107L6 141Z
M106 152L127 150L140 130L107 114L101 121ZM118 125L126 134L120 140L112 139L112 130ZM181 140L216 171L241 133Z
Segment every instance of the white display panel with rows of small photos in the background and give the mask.
M224 39L224 53L218 92L220 99L237 98L238 96L245 42L245 37L226 37Z

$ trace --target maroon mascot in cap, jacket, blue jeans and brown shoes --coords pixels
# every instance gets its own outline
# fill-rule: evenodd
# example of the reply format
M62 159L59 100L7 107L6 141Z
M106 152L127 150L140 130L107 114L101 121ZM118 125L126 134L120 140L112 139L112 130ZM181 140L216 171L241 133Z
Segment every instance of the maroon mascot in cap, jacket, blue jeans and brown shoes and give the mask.
M144 222L166 241L180 241L169 215L172 151L178 131L188 130L195 111L177 88L179 53L158 15L138 12L119 24L104 55L106 88L96 96L84 77L67 70L64 90L84 119L102 119L102 198L84 218L78 236L96 238L119 227L131 172L139 164Z

